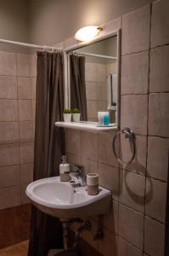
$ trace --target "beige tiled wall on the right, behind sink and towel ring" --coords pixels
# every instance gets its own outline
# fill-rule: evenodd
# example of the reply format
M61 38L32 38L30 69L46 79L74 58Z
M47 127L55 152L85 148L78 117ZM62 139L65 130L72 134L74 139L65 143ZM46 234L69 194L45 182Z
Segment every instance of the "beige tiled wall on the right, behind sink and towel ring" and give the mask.
M169 148L169 2L155 1L104 25L121 27L121 128L136 132L137 154L118 166L111 142L115 132L66 130L71 163L99 172L100 185L112 190L111 212L104 218L104 240L93 232L83 239L104 256L163 256ZM72 39L65 46L76 44ZM121 140L121 154L130 148Z

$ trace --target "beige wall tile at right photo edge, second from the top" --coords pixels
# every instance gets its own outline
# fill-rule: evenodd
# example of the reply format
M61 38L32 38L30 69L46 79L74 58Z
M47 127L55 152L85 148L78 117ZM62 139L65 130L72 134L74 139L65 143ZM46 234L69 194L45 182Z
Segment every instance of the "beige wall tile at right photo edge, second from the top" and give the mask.
M169 45L151 49L149 91L169 91L169 73L167 69L169 59Z

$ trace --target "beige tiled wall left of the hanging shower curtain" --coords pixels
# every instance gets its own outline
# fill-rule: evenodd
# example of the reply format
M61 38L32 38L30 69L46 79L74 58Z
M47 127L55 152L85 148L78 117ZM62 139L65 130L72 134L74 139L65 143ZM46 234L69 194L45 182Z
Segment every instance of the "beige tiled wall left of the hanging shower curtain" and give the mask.
M32 180L36 56L0 52L0 210L27 203Z

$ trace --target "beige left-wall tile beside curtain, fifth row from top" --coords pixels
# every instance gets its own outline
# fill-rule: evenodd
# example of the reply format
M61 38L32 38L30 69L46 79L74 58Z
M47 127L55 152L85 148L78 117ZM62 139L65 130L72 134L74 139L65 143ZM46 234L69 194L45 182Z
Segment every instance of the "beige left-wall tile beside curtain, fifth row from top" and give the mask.
M20 164L33 162L34 143L20 143Z

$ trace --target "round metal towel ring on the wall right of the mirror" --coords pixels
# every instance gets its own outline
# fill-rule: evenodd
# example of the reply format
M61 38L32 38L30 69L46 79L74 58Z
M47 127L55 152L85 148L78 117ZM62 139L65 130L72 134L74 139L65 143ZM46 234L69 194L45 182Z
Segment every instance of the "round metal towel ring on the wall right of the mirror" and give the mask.
M127 162L123 162L123 160L121 160L115 152L115 140L121 134L125 134L126 139L128 139L129 142L132 142L132 147L133 147L132 158ZM113 143L112 143L113 153L115 154L116 160L118 160L118 162L120 162L122 165L126 165L126 166L129 165L135 157L135 154L136 154L135 138L136 138L135 133L130 128L125 128L121 131L117 131L117 133L115 134L115 137L113 138Z

